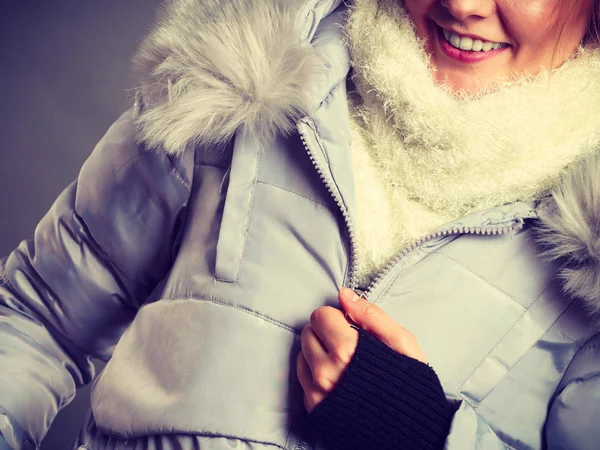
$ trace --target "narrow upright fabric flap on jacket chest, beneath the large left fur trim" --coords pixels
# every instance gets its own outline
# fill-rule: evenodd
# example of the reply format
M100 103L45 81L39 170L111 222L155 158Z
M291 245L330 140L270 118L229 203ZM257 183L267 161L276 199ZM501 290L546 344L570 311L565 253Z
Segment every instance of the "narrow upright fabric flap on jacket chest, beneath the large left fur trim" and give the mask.
M227 193L217 242L215 278L218 281L235 283L239 277L256 189L260 152L257 140L238 132L229 177L226 180Z

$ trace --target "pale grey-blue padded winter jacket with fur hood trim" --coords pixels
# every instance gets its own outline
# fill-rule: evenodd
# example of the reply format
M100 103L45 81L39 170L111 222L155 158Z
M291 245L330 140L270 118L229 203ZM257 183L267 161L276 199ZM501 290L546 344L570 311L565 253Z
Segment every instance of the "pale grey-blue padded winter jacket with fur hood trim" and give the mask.
M340 0L174 0L136 107L0 260L0 433L39 445L92 387L79 448L306 449L294 360L356 287ZM310 81L310 82L309 82ZM479 211L367 289L457 411L449 450L600 447L600 161Z

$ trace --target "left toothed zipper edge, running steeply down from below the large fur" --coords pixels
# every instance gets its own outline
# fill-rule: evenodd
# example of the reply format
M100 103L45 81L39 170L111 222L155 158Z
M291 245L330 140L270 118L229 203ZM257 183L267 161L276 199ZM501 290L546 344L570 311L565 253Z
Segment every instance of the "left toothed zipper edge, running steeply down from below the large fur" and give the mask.
M314 127L314 122L312 122L310 119L301 120L299 123L301 123L301 122L304 122L311 129ZM311 122L312 122L313 127L310 126ZM319 177L325 184L325 187L329 191L329 194L331 195L331 197L337 204L340 212L342 213L342 216L344 217L344 222L346 223L346 230L348 231L348 236L350 239L350 265L348 267L348 280L349 280L348 287L350 289L356 290L356 284L357 284L356 283L356 266L357 266L358 261L357 261L357 254L356 254L357 243L356 243L356 230L354 229L354 223L352 223L352 218L350 217L348 208L346 208L346 205L344 204L344 200L342 199L342 196L340 195L340 193L334 186L333 177L331 175L328 175L328 172L322 167L321 163L317 160L317 156L316 156L317 154L311 148L311 146L306 138L306 135L301 130L300 125L298 125L298 132L300 134L300 139L302 140L302 144L304 145L306 153L308 153L308 157L310 158L312 165L317 170Z

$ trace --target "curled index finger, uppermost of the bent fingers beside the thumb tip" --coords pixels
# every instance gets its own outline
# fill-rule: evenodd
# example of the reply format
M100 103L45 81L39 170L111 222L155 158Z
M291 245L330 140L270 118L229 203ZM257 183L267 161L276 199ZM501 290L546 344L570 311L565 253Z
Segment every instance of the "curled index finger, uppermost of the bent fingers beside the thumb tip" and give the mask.
M315 309L310 315L310 324L327 352L354 353L357 332L349 326L344 313L339 309L330 306Z

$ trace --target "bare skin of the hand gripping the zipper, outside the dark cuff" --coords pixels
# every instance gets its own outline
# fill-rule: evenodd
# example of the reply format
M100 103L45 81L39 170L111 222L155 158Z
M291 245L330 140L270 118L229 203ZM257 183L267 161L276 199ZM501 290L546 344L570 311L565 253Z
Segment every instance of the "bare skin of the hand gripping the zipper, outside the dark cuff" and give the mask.
M426 363L415 337L381 308L342 288L339 302L348 317L388 347ZM304 406L310 413L335 389L354 356L358 331L344 312L330 306L315 309L301 336L302 350L296 361L297 375L304 390Z

